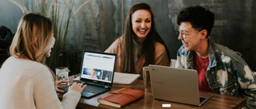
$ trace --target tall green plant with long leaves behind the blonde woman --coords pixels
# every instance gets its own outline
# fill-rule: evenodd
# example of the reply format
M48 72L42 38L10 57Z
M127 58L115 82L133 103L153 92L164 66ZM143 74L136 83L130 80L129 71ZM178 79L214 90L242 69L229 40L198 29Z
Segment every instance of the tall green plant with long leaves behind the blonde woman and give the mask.
M56 39L54 48L50 53L50 57L46 60L46 64L55 71L57 67L66 66L68 61L66 59L66 51L65 51L65 44L66 44L66 37L68 33L68 28L70 25L70 17L72 16L73 4L74 1L68 0L66 5L61 10L60 1L52 0L50 3L49 10L47 8L48 0L26 0L26 6L23 6L22 3L16 2L14 0L9 0L10 2L14 2L16 5L20 7L23 14L31 12L38 12L46 17L50 18L54 25L54 37ZM82 4L78 8L75 14L78 14L79 10L82 9L87 3L91 2L89 0ZM68 8L68 13L65 13L66 8ZM62 13L60 13L62 11ZM66 16L65 16L66 15Z

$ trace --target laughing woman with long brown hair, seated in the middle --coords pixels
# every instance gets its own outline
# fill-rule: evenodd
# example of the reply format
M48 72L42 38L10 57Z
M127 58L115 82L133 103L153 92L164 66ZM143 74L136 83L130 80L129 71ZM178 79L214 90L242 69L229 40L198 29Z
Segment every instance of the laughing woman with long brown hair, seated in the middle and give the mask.
M132 6L126 17L124 34L106 53L116 53L115 72L141 74L149 64L170 66L170 53L155 29L154 15L149 5Z

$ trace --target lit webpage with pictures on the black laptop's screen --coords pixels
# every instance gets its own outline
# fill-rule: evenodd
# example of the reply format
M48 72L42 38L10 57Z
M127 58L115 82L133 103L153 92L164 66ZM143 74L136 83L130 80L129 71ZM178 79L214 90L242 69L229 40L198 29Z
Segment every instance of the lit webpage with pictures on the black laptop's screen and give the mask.
M114 56L85 53L82 63L82 78L111 83L114 71Z

